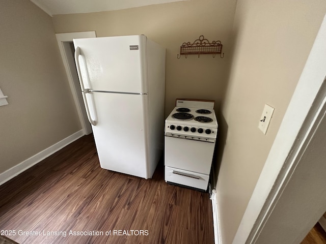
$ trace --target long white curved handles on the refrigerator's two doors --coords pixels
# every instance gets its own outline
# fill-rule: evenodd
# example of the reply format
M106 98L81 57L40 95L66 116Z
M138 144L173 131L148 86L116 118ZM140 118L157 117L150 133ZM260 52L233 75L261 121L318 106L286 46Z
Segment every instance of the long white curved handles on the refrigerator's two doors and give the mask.
M83 81L83 77L82 77L82 72L80 72L80 65L79 65L79 56L81 56L82 58L83 55L80 54L80 48L79 47L76 47L76 50L75 50L75 62L76 62L76 68L77 68L77 73L78 73L78 77L79 77L79 83L80 83L80 87L82 88L82 94L83 94L83 98L84 98L84 102L85 102L85 108L86 108L86 113L87 113L87 117L88 117L88 120L90 121L90 123L93 125L93 126L96 126L97 122L96 122L96 111L95 111L95 107L94 107L94 100L93 100L93 97L91 96L91 102L92 102L92 108L93 108L93 114L95 116L95 119L92 119L92 116L91 116L91 113L90 113L90 109L89 109L89 106L88 106L88 102L87 102L87 96L86 94L90 93L90 89L85 89L84 87L84 81ZM85 72L87 73L87 67L86 67L86 62L85 62L85 58L84 58L84 65L85 65ZM89 83L89 76L88 76L88 73L86 75L86 79L87 79L87 84L90 84Z

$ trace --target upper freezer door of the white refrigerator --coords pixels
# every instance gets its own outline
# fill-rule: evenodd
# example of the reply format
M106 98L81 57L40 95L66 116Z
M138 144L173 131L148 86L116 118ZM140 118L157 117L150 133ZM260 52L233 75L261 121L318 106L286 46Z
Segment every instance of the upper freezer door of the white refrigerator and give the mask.
M84 81L85 88L148 93L146 36L85 38L73 42L75 49L79 47L79 59L83 60L80 71L89 78L89 84Z

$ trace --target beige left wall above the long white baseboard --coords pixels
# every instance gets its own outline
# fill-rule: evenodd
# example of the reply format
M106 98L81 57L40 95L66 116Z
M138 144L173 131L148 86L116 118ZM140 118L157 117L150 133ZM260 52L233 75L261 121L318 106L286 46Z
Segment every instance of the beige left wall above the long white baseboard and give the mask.
M30 1L0 1L0 173L81 129L52 19Z

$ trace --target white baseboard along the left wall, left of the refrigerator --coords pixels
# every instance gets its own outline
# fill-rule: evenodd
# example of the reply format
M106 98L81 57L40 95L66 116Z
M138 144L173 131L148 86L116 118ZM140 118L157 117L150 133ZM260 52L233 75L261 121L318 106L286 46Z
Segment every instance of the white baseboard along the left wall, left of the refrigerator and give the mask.
M40 151L40 153L32 156L31 158L26 159L23 162L15 165L14 167L6 170L5 172L0 174L0 185L4 184L8 180L17 176L18 174L22 173L26 169L31 168L32 166L41 162L43 159L51 156L52 154L59 151L61 148L65 147L66 145L70 144L71 142L77 140L78 138L80 138L82 136L84 136L83 130L77 131L76 133L57 142L56 144L49 146L48 148L44 149L43 151Z

